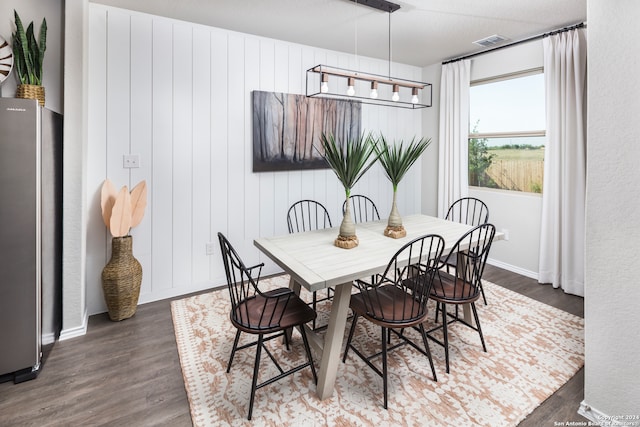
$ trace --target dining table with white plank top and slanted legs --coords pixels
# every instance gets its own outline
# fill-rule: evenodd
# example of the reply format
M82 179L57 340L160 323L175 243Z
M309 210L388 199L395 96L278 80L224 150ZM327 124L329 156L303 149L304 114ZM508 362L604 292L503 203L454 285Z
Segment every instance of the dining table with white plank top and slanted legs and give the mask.
M301 287L310 292L333 288L329 322L324 335L307 328L311 347L320 356L317 395L331 397L340 361L354 280L384 273L389 260L407 242L427 234L437 234L445 241L443 254L473 227L429 215L415 214L402 218L406 236L384 235L387 220L356 224L358 246L343 249L334 245L339 227L261 237L254 245L290 276L289 286L297 294ZM494 240L502 239L496 233ZM465 249L465 248L461 248ZM465 317L469 310L465 310ZM471 316L469 316L471 317Z

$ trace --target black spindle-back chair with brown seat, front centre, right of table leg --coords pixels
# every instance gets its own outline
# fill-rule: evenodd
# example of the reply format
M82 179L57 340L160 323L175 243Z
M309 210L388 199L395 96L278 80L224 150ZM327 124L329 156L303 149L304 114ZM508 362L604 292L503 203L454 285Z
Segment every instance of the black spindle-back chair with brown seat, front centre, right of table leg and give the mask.
M436 371L429 350L429 343L423 322L427 318L427 301L431 286L440 263L444 248L444 240L437 235L427 235L405 244L391 258L382 275L374 276L375 281L368 283L356 280L357 294L351 296L349 307L353 311L353 321L347 338L347 345L342 361L347 360L349 350L360 357L376 374L382 377L384 391L384 408L387 409L387 353L405 344L411 345L429 360L433 380L437 381ZM382 351L373 355L365 355L353 345L353 335L360 318L380 326ZM416 328L422 338L424 348L404 333L405 328ZM391 332L399 340L391 345ZM382 356L382 366L372 362Z

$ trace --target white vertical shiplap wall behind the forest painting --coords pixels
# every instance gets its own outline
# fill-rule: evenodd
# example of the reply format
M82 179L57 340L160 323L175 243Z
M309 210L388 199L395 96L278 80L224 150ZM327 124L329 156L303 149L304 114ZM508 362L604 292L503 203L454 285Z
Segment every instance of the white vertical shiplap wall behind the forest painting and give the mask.
M253 239L287 232L286 212L298 199L321 201L334 225L344 192L330 170L252 172L251 91L303 94L305 70L316 64L384 74L385 61L358 58L273 39L90 4L89 224L87 307L106 311L100 274L111 238L100 216L100 186L146 180L148 205L132 230L142 263L140 302L224 283L216 233L247 264L266 262ZM421 80L419 68L394 64L393 74ZM423 135L420 110L363 106L363 128L389 139ZM124 154L141 167L123 168ZM401 214L420 212L420 163L399 187ZM391 184L375 166L353 193L372 197L386 216ZM206 255L207 242L215 253Z

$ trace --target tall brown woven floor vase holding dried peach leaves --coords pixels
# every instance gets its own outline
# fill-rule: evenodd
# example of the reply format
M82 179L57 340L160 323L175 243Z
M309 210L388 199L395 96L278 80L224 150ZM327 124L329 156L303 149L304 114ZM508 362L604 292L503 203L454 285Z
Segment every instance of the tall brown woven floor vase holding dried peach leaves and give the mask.
M109 319L120 321L136 313L142 266L133 257L133 238L114 237L111 240L111 259L102 270L102 290L109 310Z

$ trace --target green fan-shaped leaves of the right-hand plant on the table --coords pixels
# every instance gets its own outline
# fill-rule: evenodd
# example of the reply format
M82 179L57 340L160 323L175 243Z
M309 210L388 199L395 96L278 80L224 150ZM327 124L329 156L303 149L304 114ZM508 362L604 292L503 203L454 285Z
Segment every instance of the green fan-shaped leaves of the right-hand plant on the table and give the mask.
M409 145L405 146L403 141L396 144L389 144L384 136L380 135L379 144L374 145L376 153L380 157L380 163L393 184L393 191L398 189L398 184L407 174L411 166L422 155L424 150L431 144L431 138L414 137Z

